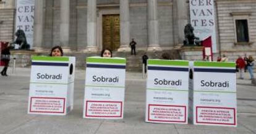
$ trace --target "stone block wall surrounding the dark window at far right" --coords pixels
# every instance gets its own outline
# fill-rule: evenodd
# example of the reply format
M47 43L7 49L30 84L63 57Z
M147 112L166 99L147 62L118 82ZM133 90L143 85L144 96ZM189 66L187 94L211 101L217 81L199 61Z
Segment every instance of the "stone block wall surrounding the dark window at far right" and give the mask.
M238 55L245 53L256 58L256 0L218 0L216 4L221 55L226 54L229 61L235 61ZM248 18L249 43L235 43L236 18Z

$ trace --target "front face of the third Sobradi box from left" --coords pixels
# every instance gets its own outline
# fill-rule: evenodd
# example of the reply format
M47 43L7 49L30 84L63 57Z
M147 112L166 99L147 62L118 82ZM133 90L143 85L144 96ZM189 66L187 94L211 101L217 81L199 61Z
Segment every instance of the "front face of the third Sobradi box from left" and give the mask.
M189 61L148 60L145 121L187 124Z

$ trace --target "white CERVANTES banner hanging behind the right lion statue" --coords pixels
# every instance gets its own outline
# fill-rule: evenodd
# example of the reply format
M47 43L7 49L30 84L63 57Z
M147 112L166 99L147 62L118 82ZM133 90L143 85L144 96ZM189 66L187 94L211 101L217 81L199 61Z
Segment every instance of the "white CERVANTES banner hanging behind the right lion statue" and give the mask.
M189 0L190 23L195 36L204 40L211 36L213 53L217 52L214 1Z

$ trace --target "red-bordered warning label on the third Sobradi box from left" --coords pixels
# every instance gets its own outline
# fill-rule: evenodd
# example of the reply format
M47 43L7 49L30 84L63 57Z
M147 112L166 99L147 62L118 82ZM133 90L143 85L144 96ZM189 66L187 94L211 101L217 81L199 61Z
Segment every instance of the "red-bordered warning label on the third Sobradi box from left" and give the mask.
M148 104L148 121L186 122L186 106Z

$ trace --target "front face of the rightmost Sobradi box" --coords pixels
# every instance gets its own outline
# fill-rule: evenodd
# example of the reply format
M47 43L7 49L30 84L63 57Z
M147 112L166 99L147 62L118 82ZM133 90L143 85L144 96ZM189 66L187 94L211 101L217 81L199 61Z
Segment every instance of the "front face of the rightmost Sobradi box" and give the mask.
M236 63L194 61L193 120L237 126Z

